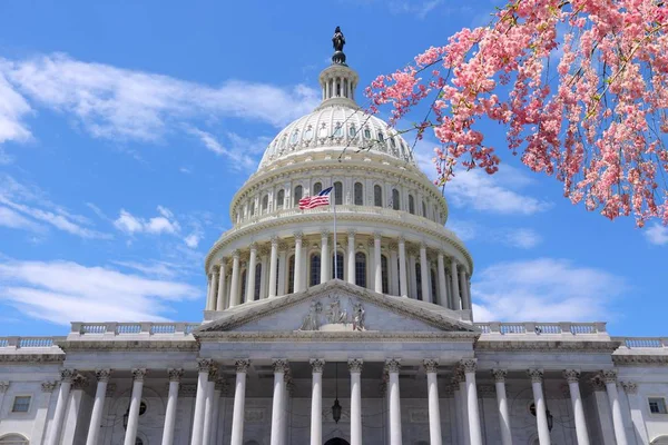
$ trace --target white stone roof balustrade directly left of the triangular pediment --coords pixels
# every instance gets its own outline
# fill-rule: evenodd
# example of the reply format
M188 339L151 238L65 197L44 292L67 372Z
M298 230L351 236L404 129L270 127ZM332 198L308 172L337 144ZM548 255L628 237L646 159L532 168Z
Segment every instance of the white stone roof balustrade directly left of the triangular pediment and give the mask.
M80 335L188 335L199 323L79 323L71 324L71 332Z

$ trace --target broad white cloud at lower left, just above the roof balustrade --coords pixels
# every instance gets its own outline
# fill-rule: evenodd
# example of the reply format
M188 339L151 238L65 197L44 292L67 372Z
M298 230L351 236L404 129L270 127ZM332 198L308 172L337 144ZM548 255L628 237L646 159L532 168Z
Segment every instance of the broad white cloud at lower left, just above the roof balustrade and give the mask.
M70 261L0 263L0 300L60 325L76 320L165 320L169 303L197 298L185 283Z

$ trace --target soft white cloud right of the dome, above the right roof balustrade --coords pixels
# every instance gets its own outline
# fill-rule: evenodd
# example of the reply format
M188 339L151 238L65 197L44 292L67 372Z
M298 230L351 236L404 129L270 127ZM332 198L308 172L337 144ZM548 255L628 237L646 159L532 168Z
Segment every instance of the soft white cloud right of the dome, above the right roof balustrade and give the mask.
M598 322L627 290L619 276L552 258L500 263L473 278L477 322Z

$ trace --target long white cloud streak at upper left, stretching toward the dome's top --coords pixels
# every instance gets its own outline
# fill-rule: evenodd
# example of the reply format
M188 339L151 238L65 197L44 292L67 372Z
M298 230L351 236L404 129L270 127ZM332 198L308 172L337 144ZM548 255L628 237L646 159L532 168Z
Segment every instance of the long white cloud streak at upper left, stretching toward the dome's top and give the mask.
M214 88L84 62L62 53L18 61L0 59L0 98L11 99L11 106L6 107L9 111L0 109L0 136L3 131L6 139L14 140L29 136L21 117L30 110L16 90L47 108L76 117L95 137L144 141L161 138L177 127L175 122L198 117L245 118L282 127L310 112L320 101L318 92L303 85L279 88L229 80Z

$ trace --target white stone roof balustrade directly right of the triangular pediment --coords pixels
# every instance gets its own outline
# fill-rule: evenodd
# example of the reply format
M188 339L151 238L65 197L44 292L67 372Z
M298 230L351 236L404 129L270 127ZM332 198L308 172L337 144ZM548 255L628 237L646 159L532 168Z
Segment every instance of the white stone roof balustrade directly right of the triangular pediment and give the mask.
M500 335L586 335L606 333L605 323L474 323L482 334Z

